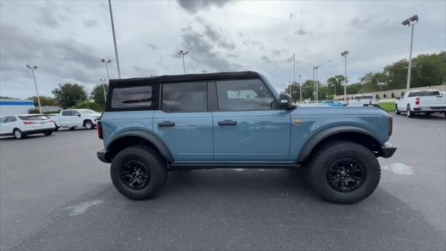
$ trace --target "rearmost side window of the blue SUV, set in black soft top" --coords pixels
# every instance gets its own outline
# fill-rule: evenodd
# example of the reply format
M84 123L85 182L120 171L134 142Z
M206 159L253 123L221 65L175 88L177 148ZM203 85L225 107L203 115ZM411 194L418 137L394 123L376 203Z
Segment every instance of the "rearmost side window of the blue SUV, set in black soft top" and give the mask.
M112 108L151 107L152 86L118 87L113 89Z

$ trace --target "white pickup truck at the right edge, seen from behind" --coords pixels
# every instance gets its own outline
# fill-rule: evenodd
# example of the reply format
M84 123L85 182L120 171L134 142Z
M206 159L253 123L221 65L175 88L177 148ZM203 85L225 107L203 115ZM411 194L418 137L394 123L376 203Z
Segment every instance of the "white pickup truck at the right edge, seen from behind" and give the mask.
M426 115L439 112L446 116L446 96L436 89L408 91L401 98L397 98L395 113L401 112L406 112L409 118L420 112Z

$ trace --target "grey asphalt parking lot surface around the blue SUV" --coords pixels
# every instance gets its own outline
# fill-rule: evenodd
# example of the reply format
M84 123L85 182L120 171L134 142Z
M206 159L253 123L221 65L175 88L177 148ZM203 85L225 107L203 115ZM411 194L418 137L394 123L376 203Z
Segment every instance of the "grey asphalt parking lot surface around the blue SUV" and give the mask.
M394 115L378 189L318 199L299 171L171 172L160 196L118 194L95 130L0 139L1 250L445 250L446 119Z

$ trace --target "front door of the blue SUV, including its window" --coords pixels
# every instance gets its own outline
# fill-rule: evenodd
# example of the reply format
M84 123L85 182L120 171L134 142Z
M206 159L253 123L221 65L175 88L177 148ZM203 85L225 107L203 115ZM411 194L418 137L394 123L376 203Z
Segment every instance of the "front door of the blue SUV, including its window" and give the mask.
M275 100L260 79L219 81L213 112L216 162L284 162L291 116L272 109Z

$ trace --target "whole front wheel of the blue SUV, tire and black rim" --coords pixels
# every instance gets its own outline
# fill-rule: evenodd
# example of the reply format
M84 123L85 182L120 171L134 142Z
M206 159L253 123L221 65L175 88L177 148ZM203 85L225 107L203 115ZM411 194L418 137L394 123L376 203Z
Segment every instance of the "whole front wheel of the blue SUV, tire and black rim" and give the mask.
M309 184L323 199L335 203L355 203L369 197L380 174L374 153L344 140L319 147L307 165Z

